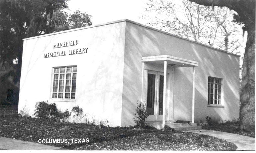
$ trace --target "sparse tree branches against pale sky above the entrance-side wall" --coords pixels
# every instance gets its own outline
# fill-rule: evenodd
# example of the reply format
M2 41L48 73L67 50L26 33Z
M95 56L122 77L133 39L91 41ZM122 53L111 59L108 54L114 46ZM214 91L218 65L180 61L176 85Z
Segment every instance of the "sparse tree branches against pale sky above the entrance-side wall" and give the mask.
M188 0L149 0L142 19L147 25L225 51L239 53L236 35L242 25L233 22L227 8L214 9ZM239 31L240 30L240 31Z

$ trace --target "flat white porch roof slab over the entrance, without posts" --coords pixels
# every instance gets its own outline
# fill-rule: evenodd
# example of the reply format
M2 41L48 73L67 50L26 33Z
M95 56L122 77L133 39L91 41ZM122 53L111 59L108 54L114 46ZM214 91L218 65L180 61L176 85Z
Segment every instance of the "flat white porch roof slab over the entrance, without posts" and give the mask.
M141 58L142 62L164 64L167 61L169 66L174 67L197 67L198 62L187 59L178 58L170 55L159 55L159 56L147 56Z

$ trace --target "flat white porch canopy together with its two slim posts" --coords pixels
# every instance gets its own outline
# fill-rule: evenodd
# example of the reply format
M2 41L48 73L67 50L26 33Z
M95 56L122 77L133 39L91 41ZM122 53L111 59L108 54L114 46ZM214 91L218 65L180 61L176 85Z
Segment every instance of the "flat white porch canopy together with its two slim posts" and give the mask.
M163 91L163 125L165 124L165 102L166 102L166 74L167 74L167 65L172 67L193 67L193 83L192 83L192 123L194 123L195 117L195 67L198 66L198 62L191 61L187 59L178 58L170 55L160 55L160 56L147 56L142 57L141 61L146 63L154 64L163 64L164 65L164 91Z

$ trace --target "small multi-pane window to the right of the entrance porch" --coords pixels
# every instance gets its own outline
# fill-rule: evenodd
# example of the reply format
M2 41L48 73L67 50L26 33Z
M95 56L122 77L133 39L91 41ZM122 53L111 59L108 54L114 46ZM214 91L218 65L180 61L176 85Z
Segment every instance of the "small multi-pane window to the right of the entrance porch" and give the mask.
M208 104L221 104L221 78L208 77Z

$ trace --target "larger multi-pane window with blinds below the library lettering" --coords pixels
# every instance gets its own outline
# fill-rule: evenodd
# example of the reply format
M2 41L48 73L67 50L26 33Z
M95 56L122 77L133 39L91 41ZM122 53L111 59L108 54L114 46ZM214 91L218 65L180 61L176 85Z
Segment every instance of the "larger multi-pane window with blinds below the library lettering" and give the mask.
M76 71L76 66L54 68L52 98L75 99Z

